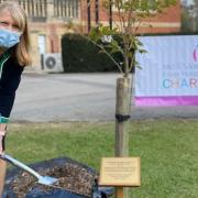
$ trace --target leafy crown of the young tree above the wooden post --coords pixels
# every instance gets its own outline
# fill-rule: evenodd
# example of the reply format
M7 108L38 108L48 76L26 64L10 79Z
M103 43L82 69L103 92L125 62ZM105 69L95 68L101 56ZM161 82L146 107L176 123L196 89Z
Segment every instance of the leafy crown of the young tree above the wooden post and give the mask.
M91 29L89 38L98 45L118 66L123 77L128 77L135 62L135 53L144 53L138 34L145 19L163 12L177 0L102 0L102 6L109 11L113 8L113 28L99 24ZM116 36L117 35L117 36ZM120 54L120 59L114 54Z

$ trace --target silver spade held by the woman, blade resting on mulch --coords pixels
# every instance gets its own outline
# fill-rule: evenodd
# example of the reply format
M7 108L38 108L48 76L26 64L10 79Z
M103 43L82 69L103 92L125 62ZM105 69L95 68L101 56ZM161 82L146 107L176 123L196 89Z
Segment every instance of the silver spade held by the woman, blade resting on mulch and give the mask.
M58 179L50 176L42 176L34 169L30 168L25 164L16 161L15 158L11 157L10 155L0 155L0 158L8 161L9 163L13 164L16 167L22 168L23 170L28 172L29 174L33 175L38 184L46 185L46 186L52 186L54 183L56 183Z

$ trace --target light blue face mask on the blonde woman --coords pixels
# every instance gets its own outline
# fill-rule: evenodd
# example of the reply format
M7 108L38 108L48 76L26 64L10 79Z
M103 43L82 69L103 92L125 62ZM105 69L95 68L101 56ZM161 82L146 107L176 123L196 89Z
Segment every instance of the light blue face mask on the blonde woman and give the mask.
M20 42L21 34L6 29L0 29L0 47L10 48Z

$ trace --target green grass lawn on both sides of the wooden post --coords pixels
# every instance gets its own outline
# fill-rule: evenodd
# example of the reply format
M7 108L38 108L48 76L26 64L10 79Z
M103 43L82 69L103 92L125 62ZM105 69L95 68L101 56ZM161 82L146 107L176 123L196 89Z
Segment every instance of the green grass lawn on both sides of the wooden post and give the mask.
M135 121L129 131L130 156L141 157L142 182L130 197L198 197L198 120ZM25 163L67 156L99 169L113 150L113 122L9 125L7 153Z

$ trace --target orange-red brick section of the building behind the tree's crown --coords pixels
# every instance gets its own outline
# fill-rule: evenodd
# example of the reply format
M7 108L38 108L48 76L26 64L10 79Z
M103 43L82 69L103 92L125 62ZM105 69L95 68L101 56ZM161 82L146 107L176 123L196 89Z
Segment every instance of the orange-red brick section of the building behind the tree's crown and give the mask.
M102 0L82 0L84 13L81 15L82 23L89 29L91 25L97 23L110 24L110 15L113 21L117 20L117 12L111 9L107 12L102 9ZM153 0L147 0L153 1ZM90 3L90 8L88 7ZM164 10L163 13L144 21L141 24L140 32L142 33L173 33L180 31L180 18L182 18L182 6L180 0L177 0L177 4Z

